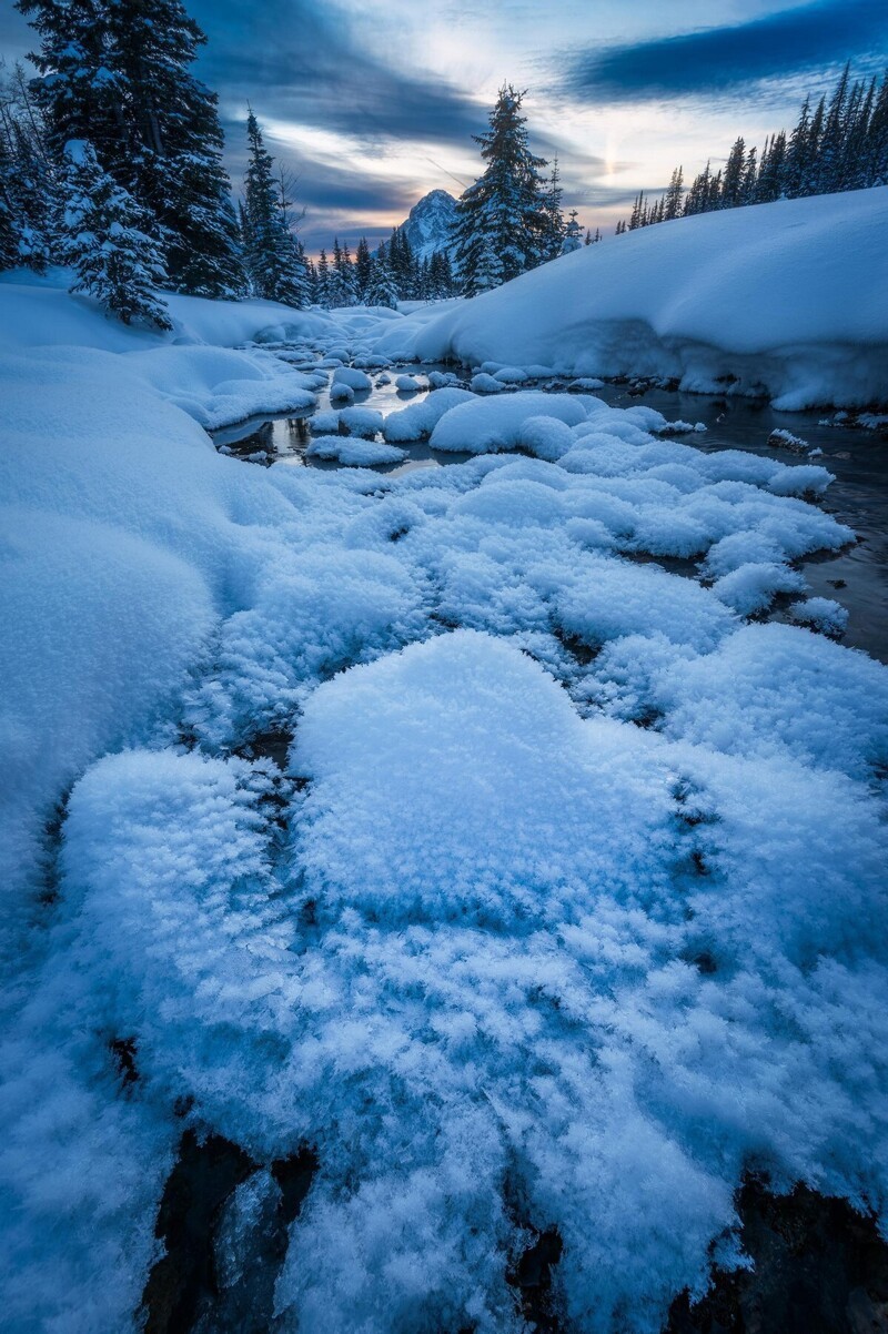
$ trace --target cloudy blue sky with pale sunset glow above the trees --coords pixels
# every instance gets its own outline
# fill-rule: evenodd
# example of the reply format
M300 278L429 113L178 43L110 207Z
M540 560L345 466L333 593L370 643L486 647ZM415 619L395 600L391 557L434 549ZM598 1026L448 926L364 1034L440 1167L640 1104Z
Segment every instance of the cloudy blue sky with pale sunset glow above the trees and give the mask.
M845 60L888 64L888 0L187 0L208 41L235 187L252 105L297 177L309 252L371 241L429 189L481 169L472 135L503 83L527 89L531 144L557 155L568 208L612 231L640 191L685 181L737 135L761 148ZM0 51L31 32L0 0Z

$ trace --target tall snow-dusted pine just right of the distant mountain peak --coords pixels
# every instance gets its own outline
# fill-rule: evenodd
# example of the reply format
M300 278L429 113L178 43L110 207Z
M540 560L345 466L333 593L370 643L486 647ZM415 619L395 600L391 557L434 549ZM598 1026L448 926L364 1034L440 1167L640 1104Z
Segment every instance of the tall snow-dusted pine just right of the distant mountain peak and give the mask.
M467 296L484 291L496 273L504 283L543 260L545 187L540 171L545 160L531 152L523 97L511 84L500 88L489 129L475 135L485 168L457 200L453 224L460 287Z

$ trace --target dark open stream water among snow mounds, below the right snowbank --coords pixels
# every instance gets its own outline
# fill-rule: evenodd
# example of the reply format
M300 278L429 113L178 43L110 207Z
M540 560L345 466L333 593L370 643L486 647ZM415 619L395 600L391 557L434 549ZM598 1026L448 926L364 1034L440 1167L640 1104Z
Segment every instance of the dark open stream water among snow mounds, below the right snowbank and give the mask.
M423 378L437 367L405 366L392 370L391 383L355 395L356 407L371 407L387 416L417 399L416 394L401 394L395 387L397 375ZM452 370L452 367L440 367ZM377 375L371 374L373 380ZM832 598L848 610L848 630L843 643L864 648L875 658L888 662L888 432L840 428L821 424L828 412L775 412L759 400L715 398L699 394L651 388L639 392L625 384L608 384L596 396L613 407L632 407L643 403L656 408L669 420L703 422L705 434L680 439L707 454L717 450L747 450L764 454L781 463L816 463L835 475L827 495L819 502L824 510L852 528L857 542L839 555L813 555L800 562L809 584L809 596ZM319 395L315 411L331 407L328 391ZM337 468L340 464L320 459L307 459L305 447L311 439L307 412L301 416L251 418L236 427L213 432L217 447L225 452L257 463L285 463L295 467ZM791 431L823 452L808 459L804 455L773 448L768 444L772 431ZM469 455L440 454L428 444L405 446L408 458L403 463L381 464L375 471L397 476L415 468L463 463ZM783 619L780 608L772 619Z

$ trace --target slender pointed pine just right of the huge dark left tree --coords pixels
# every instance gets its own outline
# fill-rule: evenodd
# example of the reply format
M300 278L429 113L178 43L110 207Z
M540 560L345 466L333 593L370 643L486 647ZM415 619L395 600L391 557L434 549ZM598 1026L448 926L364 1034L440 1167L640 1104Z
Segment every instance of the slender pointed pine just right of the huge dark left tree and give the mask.
M252 108L247 115L249 163L244 181L247 272L256 296L301 307L308 300L305 260L291 231L285 175L273 172Z

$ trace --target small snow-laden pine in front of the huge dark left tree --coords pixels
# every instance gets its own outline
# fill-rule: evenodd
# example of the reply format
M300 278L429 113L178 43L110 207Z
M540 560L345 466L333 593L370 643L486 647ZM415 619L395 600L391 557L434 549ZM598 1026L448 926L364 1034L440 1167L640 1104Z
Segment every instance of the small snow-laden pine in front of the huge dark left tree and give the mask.
M64 197L60 249L75 272L69 291L95 296L124 324L171 328L155 292L167 273L157 241L145 231L145 212L101 169L87 140L65 145Z

